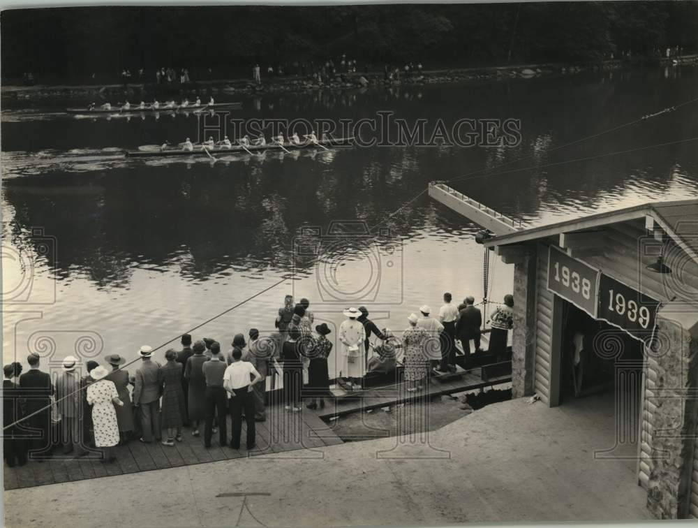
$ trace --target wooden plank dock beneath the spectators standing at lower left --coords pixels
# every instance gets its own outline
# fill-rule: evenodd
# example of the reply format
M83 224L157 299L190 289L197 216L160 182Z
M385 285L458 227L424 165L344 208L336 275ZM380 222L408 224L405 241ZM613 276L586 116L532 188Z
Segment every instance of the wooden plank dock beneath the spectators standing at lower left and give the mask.
M228 439L232 431L230 416ZM62 482L82 481L87 478L124 475L139 471L152 471L170 467L189 466L231 460L234 458L264 456L293 450L308 450L304 456L322 456L313 448L343 443L316 413L303 408L300 413L289 413L283 405L267 407L267 421L256 424L257 447L247 451L245 446L245 425L242 427L242 442L239 450L218 443L218 434L213 435L211 447L204 447L204 432L200 437L192 437L191 429L184 429L184 441L175 442L174 447L163 446L159 442L142 443L138 440L116 448L117 460L103 464L100 452L80 458L66 458L61 447L54 450L54 457L44 462L30 460L23 467L4 467L5 490L33 487Z

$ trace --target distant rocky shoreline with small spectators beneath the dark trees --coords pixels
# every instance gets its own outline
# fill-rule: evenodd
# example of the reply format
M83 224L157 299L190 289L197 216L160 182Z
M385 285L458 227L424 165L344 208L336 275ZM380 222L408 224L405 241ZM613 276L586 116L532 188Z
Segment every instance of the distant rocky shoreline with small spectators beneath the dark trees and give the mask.
M123 83L96 85L66 85L66 84L37 84L37 85L3 85L0 89L2 98L6 101L39 101L45 99L87 99L96 101L131 98L172 97L191 98L194 94L225 94L252 95L269 94L282 91L306 91L313 89L357 89L376 86L396 85L427 85L448 84L450 82L468 82L477 80L497 80L505 78L535 78L544 75L570 74L581 71L605 71L630 68L639 64L654 66L671 66L674 61L681 66L698 66L698 54L681 55L670 59L638 59L628 61L621 59L595 61L584 64L518 64L511 66L487 66L478 68L445 68L440 70L424 70L405 75L400 72L399 80L385 80L383 71L364 73L337 74L334 80L318 83L311 78L301 76L263 77L256 85L249 78L200 80L180 84ZM364 82L364 80L366 82Z

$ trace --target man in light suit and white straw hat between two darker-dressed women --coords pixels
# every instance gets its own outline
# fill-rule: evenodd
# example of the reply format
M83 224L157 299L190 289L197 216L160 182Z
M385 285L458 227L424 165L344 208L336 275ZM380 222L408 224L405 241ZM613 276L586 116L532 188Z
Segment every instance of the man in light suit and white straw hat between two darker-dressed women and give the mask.
M142 416L143 436L140 441L151 443L162 439L160 427L160 383L158 383L160 365L151 360L153 349L144 345L140 347L142 365L135 372L135 388L133 389L133 404L140 407Z

